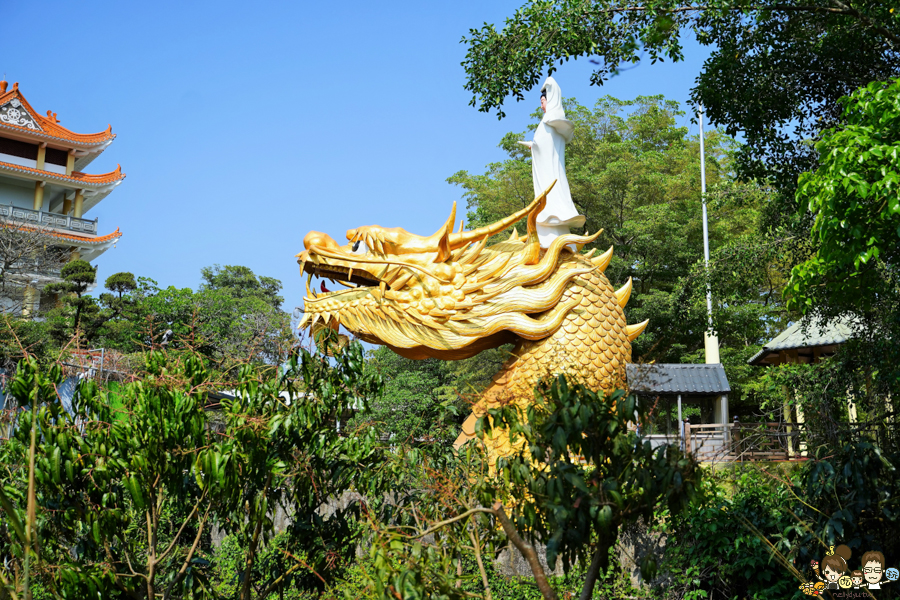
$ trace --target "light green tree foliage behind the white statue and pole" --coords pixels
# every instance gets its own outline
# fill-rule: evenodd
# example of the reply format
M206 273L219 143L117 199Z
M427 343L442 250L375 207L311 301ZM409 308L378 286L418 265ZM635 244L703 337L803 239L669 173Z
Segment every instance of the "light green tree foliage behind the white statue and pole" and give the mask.
M706 133L708 279L701 262L699 140L678 125L684 117L678 104L661 96L607 96L592 109L571 99L565 108L576 131L566 147L572 199L587 217L585 229L603 230L586 250L615 248L606 275L616 284L633 278L629 320L651 322L634 342L634 359L683 362L703 349L707 282L723 347L757 346L773 337L784 324L782 273L791 263L760 233L771 190L735 179L735 141L716 130ZM500 145L509 158L483 175L461 171L448 180L463 188L471 226L533 199L530 156L515 144L524 135L507 134ZM524 223L518 227L522 231ZM743 368L737 359L726 366L729 377L733 367Z

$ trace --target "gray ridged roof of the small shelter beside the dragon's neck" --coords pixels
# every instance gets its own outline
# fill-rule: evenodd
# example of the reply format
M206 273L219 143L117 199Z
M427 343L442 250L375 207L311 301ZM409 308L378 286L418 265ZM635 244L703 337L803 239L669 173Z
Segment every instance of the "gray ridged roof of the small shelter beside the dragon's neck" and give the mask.
M649 394L725 394L731 391L721 364L626 365L628 387Z

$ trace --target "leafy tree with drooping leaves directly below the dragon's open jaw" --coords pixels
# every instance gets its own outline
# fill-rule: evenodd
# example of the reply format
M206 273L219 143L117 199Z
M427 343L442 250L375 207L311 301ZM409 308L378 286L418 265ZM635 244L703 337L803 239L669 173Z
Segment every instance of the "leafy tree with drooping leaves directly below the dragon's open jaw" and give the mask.
M333 354L329 360L301 349L276 378L244 366L235 398L226 403L227 441L208 460L227 465L227 491L217 512L241 548L242 600L333 582L353 558L360 504L321 507L350 490L377 498L388 489L380 476L378 432L366 427L348 435L338 423L378 397L381 379L364 368L359 343ZM279 506L291 523L279 540L281 550L268 549L263 568L259 561L275 533L272 514Z

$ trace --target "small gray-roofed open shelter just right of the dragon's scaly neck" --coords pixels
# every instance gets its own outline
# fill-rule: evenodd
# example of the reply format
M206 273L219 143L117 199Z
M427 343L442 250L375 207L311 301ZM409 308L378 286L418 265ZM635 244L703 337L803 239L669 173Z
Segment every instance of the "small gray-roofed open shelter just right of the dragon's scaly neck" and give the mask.
M715 364L630 364L629 390L650 402L642 432L653 446L678 443L698 460L728 454L731 423L725 368Z

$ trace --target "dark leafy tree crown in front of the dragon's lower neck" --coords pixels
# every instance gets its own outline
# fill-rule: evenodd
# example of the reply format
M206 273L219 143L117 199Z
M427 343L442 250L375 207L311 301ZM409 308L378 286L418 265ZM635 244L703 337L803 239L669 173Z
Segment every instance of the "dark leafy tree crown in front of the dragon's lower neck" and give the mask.
M604 573L622 525L649 522L662 506L677 513L694 496L695 463L673 446L651 449L629 428L647 414L644 404L560 376L524 414L508 406L479 419L485 440L495 427L508 428L516 448L498 459L485 493L515 499L511 519L528 539L545 541L551 568L561 559L566 570L596 564Z

